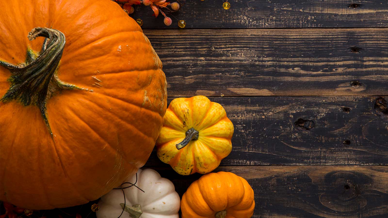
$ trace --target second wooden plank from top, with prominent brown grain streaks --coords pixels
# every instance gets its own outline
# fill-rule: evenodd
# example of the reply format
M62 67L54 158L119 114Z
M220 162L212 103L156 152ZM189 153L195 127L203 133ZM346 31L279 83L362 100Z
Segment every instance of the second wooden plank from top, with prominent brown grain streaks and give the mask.
M144 33L170 97L388 95L388 29Z

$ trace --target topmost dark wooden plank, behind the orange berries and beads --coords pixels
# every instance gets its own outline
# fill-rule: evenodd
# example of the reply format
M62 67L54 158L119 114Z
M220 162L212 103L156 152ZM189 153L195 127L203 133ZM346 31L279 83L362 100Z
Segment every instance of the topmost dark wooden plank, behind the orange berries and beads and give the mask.
M182 0L180 11L173 13L186 21L186 29L204 28L346 28L388 27L386 0L230 0L230 9L222 0ZM131 15L144 21L143 29L178 29L156 19L150 7L135 6Z

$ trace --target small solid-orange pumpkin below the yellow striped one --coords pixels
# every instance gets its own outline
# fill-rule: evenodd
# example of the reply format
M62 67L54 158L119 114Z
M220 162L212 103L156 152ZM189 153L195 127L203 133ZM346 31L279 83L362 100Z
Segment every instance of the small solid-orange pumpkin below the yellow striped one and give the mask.
M249 218L255 209L254 193L234 173L209 173L189 186L180 209L182 218Z

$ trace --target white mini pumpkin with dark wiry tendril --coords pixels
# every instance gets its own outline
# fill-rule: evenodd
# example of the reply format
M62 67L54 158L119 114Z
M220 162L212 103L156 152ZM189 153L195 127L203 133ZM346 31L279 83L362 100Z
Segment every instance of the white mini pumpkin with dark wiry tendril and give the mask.
M136 175L125 182L133 184L135 181ZM179 218L180 198L170 180L162 178L155 170L139 169L136 186L144 192L134 186L124 189L126 206L122 218ZM123 191L111 190L101 197L98 205L97 218L117 218L123 211Z

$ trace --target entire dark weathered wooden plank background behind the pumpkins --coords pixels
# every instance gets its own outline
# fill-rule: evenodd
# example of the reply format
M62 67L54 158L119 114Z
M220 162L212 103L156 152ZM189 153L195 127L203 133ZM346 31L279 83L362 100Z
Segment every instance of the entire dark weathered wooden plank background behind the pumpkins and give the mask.
M253 218L387 218L388 0L229 2L185 1L173 14L184 29L149 7L131 15L163 62L168 102L206 95L234 123L216 171L248 180ZM201 176L178 175L156 152L144 168L180 196ZM62 217L95 218L94 202Z

